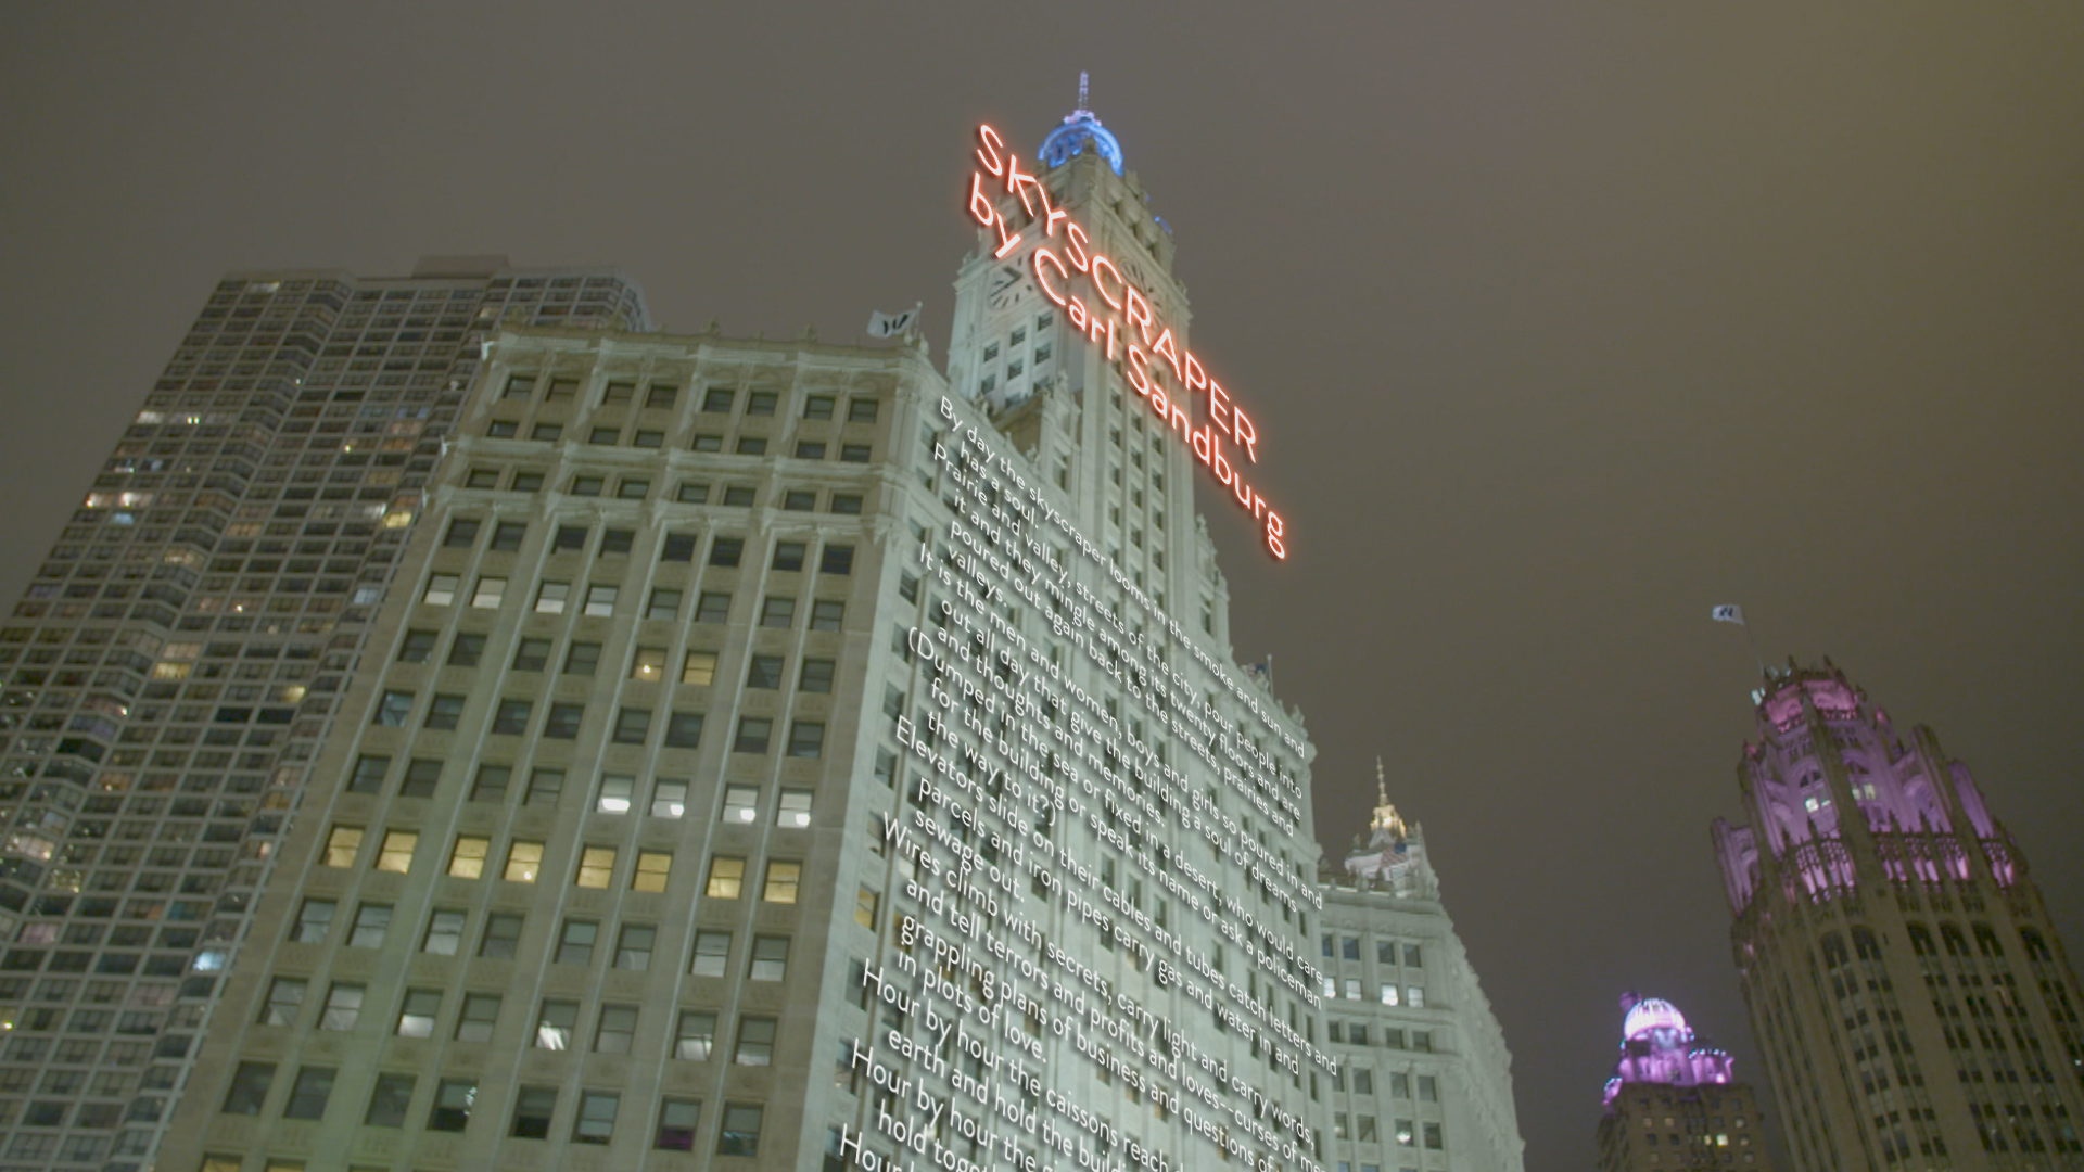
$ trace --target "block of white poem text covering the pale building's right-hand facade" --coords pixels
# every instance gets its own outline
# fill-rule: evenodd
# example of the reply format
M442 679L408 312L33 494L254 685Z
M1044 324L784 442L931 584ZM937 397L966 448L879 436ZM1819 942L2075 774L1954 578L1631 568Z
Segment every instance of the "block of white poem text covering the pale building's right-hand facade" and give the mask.
M1292 926L1321 897L1217 801L1230 792L1292 834L1298 778L1263 744L1292 759L1302 744L998 455L996 436L948 400L940 423L934 471L954 517L946 551L921 551L938 590L927 626L907 632L929 699L919 719L898 717L911 805L882 828L915 911L898 913L896 949L863 968L879 1024L846 1043L846 1064L875 1109L871 1126L842 1128L842 1155L869 1172L1171 1170L1219 1155L1319 1170L1307 1120L1284 1103L1336 1064L1269 991L1321 1005ZM1075 582L1073 559L1100 567L1121 603ZM1048 646L1009 619L1015 607L1046 615ZM1073 657L1125 707L1073 682ZM1257 728L1225 724L1182 657ZM1163 742L1192 761L1169 761ZM1067 826L1088 828L1105 861L1067 849ZM1221 876L1263 893L1257 907ZM1050 905L1059 932L1090 932L1105 951L1050 938ZM1190 943L1209 932L1232 963ZM1082 959L1109 955L1142 982L1125 988ZM1230 1055L1232 1039L1248 1059ZM1052 1078L1050 1061L1084 1064L1092 1080ZM1105 1099L1065 1089L1082 1082ZM1113 1122L1132 1103L1165 1120L1163 1145Z

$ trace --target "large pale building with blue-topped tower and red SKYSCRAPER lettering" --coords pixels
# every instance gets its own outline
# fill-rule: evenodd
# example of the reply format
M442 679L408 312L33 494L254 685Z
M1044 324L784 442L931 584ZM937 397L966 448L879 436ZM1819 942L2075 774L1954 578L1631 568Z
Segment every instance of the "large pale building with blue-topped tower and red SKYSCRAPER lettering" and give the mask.
M1252 430L1088 111L977 169L946 377L494 338L160 1168L1325 1168L1313 751L1194 513Z

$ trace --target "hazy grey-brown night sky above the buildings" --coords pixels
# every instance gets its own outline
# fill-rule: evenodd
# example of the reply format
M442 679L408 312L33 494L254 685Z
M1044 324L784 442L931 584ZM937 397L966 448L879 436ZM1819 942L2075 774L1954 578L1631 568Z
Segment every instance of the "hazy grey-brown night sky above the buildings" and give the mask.
M185 8L0 13L6 599L227 269L611 263L771 338L925 298L938 359L971 127L1032 152L1088 69L1290 517L1273 565L1202 488L1236 651L1319 840L1375 755L1425 828L1530 1170L1590 1164L1623 988L1761 1076L1713 603L1938 728L2084 947L2076 4Z

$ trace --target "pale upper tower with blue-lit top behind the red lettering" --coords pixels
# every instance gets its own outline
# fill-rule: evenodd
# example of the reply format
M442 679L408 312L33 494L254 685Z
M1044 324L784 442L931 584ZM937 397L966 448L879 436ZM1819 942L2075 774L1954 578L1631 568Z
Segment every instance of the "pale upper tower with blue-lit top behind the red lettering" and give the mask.
M1009 146L1009 152L1013 148ZM1025 163L1025 161L1021 161ZM1065 213L1188 348L1190 309L1173 279L1171 229L1123 169L1121 144L1080 104L1042 140L1034 163L1048 206ZM1019 196L986 188L1004 223L1025 223ZM948 386L984 402L1042 480L1067 494L1077 526L1182 626L1227 646L1227 588L1205 523L1194 515L1194 457L1125 382L1121 346L1080 329L1036 284L1036 248L1065 246L1063 219L1021 229L1002 257L982 229L954 279ZM1086 300L1094 300L1088 292ZM1094 300L1098 307L1098 302ZM1105 309L1105 307L1100 307ZM1186 407L1186 405L1182 405Z

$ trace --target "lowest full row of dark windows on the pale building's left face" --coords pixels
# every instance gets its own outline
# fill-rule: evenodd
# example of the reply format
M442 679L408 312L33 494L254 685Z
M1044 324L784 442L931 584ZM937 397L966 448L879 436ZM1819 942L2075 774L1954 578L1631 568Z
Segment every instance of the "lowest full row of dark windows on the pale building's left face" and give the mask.
M759 1030L759 1020L746 1020L740 1024L740 1047L759 1047L756 1039L748 1039L748 1028ZM773 1020L765 1020L767 1045L773 1045ZM765 1066L765 1061L748 1066ZM319 1120L325 1118L325 1109L333 1097L333 1082L340 1070L333 1066L300 1066L296 1080L290 1084L290 1095L281 1105L281 1118L286 1120ZM267 1101L269 1089L275 1082L275 1064L271 1061L242 1061L231 1074L231 1089L225 1095L227 1116L258 1116L260 1105ZM363 1112L363 1124L402 1128L406 1126L413 1109L413 1099L417 1093L417 1074L383 1072L377 1074L375 1089L369 1095L369 1107ZM515 1139L548 1139L550 1124L556 1118L559 1086L531 1086L523 1084L515 1095L515 1114L508 1124L506 1134ZM431 1132L461 1132L469 1128L471 1114L477 1107L477 1080L475 1078L442 1078L436 1084L433 1097L427 1105L425 1130ZM611 1143L615 1139L615 1120L621 1114L621 1091L596 1091L579 1089L577 1109L571 1120L573 1143ZM694 1151L696 1132L700 1128L702 1105L696 1099L675 1099L665 1097L659 1103L659 1122L652 1132L652 1147L661 1151ZM723 1107L723 1126L717 1132L717 1155L756 1155L761 1137L761 1116L763 1107L756 1103L727 1103ZM238 1172L240 1157L235 1155L206 1155L202 1159L202 1172ZM281 1168L269 1162L269 1168ZM298 1164L296 1168L302 1168Z

